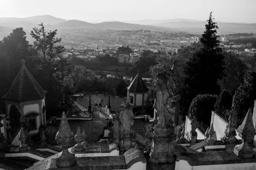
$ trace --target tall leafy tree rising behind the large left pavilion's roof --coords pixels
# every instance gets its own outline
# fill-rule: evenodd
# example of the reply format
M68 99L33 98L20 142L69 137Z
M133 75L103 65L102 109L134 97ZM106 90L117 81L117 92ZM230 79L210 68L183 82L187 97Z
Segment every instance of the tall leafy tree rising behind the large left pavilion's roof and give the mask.
M33 28L31 36L35 39L34 47L38 55L29 59L33 70L30 72L35 79L46 90L47 116L54 113L58 107L72 104L73 92L66 82L66 77L72 70L67 58L61 57L64 47L56 45L61 38L56 38L57 30L46 31L43 23L40 28Z

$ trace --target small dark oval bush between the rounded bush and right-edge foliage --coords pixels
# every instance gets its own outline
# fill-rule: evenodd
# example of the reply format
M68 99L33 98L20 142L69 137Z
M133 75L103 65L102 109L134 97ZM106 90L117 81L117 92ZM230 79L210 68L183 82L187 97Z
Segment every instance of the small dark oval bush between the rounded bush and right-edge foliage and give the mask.
M227 119L227 110L232 106L232 96L226 90L221 91L214 105L215 111Z

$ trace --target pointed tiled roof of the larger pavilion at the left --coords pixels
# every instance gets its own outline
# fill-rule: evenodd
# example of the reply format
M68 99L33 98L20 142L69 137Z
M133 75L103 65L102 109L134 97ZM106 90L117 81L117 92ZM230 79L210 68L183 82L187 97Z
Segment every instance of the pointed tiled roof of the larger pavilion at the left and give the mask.
M27 101L44 98L47 91L44 91L34 77L29 73L22 59L22 66L9 91L2 97L12 101Z

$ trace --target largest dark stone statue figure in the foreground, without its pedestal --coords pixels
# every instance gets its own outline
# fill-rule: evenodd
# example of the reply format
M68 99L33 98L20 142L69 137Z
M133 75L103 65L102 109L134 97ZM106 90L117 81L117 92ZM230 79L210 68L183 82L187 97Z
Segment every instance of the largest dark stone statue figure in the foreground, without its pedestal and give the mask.
M176 83L174 81L174 73L169 65L164 65L165 71L157 74L155 79L156 86L156 110L157 123L156 126L172 127L172 108L175 107L177 101L180 100L180 95L176 93Z

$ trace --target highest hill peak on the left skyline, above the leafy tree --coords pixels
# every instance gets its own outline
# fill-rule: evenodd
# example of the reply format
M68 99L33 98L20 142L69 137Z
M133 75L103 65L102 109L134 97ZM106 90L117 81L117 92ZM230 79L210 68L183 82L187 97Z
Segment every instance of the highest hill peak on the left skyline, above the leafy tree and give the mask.
M51 15L38 15L34 17L26 17L26 18L23 18L23 20L30 21L31 23L35 23L35 24L44 23L44 24L50 24L50 25L67 21L62 18L53 17Z

